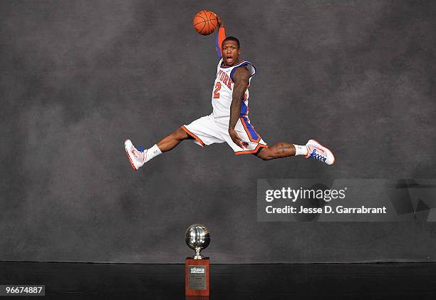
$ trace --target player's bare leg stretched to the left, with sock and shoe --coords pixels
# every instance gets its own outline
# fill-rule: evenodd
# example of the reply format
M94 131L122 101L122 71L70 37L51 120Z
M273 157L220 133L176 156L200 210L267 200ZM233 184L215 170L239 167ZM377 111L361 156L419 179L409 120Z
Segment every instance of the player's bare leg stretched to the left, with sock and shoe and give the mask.
M193 139L190 135L185 133L185 130L182 128L177 128L173 133L167 135L165 138L162 138L156 145L154 145L150 149L136 149L133 143L130 140L125 140L124 147L125 152L128 155L130 165L132 165L133 169L137 170L145 162L151 160L157 155L162 154L162 152L170 151L179 145L182 140Z

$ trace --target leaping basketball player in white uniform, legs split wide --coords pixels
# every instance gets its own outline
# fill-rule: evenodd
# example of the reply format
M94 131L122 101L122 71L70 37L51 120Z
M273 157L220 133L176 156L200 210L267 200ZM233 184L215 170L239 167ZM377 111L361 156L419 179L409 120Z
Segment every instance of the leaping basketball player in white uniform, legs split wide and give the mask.
M147 150L142 148L137 150L130 140L125 140L125 152L133 169L138 170L145 162L162 152L172 150L182 140L194 140L194 143L202 147L225 142L236 155L251 153L262 160L302 155L332 165L335 162L333 152L313 139L308 140L306 145L291 143L277 143L271 147L266 145L248 118L248 87L256 73L256 68L249 61L239 60L238 39L233 36L226 38L224 22L219 16L217 16L217 23L219 26L217 52L221 59L212 90L212 113L188 125L182 125Z

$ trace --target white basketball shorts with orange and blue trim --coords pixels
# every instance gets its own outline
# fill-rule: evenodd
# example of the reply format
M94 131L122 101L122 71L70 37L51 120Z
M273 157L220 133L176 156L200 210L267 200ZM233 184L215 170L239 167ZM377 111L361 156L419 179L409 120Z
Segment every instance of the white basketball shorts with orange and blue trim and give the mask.
M234 130L241 138L245 148L235 144L229 135L229 121L216 120L213 115L206 115L194 120L189 125L183 125L182 129L194 138L194 143L204 147L213 143L227 143L234 151L234 154L256 153L261 147L268 147L260 135L256 133L250 124L249 118L239 118Z

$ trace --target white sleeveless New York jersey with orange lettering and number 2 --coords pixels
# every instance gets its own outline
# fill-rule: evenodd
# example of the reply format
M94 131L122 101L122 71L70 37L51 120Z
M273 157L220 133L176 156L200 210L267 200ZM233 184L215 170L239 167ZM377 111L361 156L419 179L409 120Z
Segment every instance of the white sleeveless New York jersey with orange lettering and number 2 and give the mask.
M256 73L256 68L248 61L241 61L234 66L222 66L222 58L217 67L217 79L215 79L214 88L212 90L212 108L214 108L212 115L216 120L228 122L230 118L230 105L232 104L233 94L233 74L238 67L245 66L251 77ZM241 99L241 117L247 117L249 112L249 91L248 88Z

